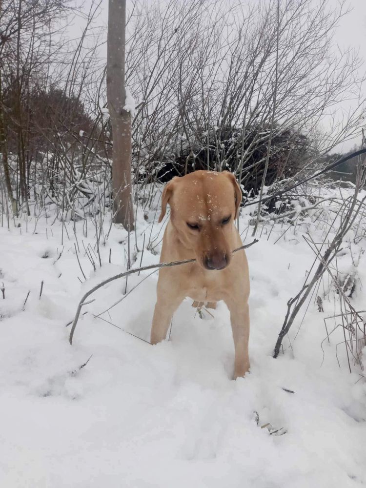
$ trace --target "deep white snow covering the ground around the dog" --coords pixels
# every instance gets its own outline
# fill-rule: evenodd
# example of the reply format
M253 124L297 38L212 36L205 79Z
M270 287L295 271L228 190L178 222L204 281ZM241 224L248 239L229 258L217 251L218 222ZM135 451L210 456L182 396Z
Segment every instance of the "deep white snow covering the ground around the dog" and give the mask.
M131 235L133 266L141 258L146 265L159 261L163 225L152 224L154 214L147 221L141 215L136 236ZM321 347L323 319L334 314L337 296L324 299L324 313L313 296L300 329L306 307L291 329L292 347L285 338L285 353L272 358L286 303L300 290L314 260L301 234L312 225L310 219L281 239L286 226L276 224L270 235L271 227L265 227L260 242L247 250L251 371L237 381L230 379L233 342L224 304L211 310L213 317L203 312L200 318L186 300L174 316L170 341L158 346L125 332L148 340L157 273L131 275L127 290L146 279L102 318L93 314L123 296L125 280L95 293L95 301L83 307L88 313L81 316L70 346L66 324L82 294L125 269L126 232L110 228L105 219L100 267L91 221L87 235L85 223L76 223L76 234L73 223L65 223L63 244L62 224L51 214L29 217L27 223L23 219L20 227L10 223L10 230L5 221L0 227L5 293L2 299L0 292L1 487L366 484L366 380L357 366L349 373L343 345L337 349L338 366L336 344L342 332L323 344L324 358ZM244 211L242 230L248 222ZM322 238L319 223L312 230L314 240ZM250 230L244 236L250 242ZM146 247L155 237L152 252ZM345 246L338 265L346 270L350 262ZM365 309L362 260L358 271L352 300L356 309ZM270 435L261 428L266 423L287 432Z

